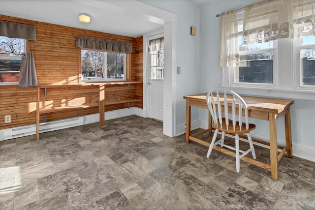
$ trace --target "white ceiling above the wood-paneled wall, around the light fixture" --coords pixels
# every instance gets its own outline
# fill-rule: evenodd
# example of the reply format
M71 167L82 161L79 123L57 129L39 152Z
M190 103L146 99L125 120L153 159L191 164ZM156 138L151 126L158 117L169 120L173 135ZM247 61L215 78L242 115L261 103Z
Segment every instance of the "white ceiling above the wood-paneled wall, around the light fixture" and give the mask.
M0 14L28 20L139 37L163 28L174 14L137 0L1 0ZM79 22L88 13L90 23Z

